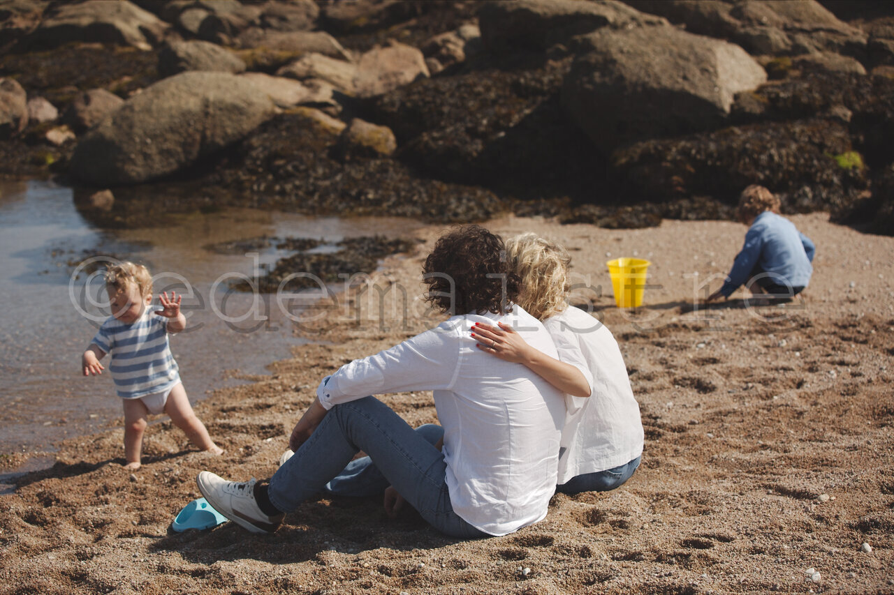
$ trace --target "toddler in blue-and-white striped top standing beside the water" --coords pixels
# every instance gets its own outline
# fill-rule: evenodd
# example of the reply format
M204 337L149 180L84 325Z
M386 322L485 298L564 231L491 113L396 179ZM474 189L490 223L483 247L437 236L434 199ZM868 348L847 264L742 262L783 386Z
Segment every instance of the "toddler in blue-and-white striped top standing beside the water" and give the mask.
M149 414L169 415L196 447L222 454L223 449L215 445L205 424L193 413L168 346L168 333L186 328L181 297L172 291L169 299L165 291L158 298L164 309L153 312L149 307L152 278L145 266L133 263L109 268L105 290L112 315L81 357L81 369L85 376L101 374L105 366L99 360L107 353L112 355L109 371L124 404L125 468L139 469Z

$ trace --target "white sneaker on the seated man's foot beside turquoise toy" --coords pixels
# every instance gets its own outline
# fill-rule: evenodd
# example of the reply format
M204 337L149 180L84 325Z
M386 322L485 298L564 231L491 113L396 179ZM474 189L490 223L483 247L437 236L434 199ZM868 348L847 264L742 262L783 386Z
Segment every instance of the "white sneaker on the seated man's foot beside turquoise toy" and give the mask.
M203 471L196 478L198 490L217 512L253 533L272 533L283 522L281 515L266 515L255 500L255 483L227 482L223 477Z

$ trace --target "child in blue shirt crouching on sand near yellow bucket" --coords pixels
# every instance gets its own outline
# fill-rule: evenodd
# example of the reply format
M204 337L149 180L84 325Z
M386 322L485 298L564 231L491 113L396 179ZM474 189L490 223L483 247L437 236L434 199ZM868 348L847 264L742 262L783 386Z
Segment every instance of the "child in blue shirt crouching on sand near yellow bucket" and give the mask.
M740 285L753 295L787 301L807 287L814 272L814 242L779 214L780 199L752 184L738 199L738 219L748 226L745 244L720 289L707 301L729 299Z

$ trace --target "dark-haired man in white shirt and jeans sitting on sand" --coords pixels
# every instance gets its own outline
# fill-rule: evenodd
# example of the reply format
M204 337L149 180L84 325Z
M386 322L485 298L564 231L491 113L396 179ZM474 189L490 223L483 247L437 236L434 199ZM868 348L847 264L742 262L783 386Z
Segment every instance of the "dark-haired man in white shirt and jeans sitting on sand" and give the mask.
M345 495L384 493L390 514L405 499L463 539L544 518L557 478L561 392L525 366L479 356L471 336L475 323L508 323L557 357L543 324L513 303L519 282L502 239L479 226L448 232L426 259L424 280L426 299L450 318L325 377L291 432L294 453L269 482L199 473L212 507L251 532L274 532L328 485ZM434 391L441 426L414 431L367 396L407 390ZM359 450L368 457L352 462Z

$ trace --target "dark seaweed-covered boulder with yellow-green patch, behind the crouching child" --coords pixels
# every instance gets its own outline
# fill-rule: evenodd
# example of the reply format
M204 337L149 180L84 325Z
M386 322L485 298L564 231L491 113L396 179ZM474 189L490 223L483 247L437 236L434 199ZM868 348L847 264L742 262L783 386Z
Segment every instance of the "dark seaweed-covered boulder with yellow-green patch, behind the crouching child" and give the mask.
M821 118L645 140L615 151L611 170L650 201L714 197L735 204L742 189L761 184L780 194L788 212L846 212L868 187L848 125Z

